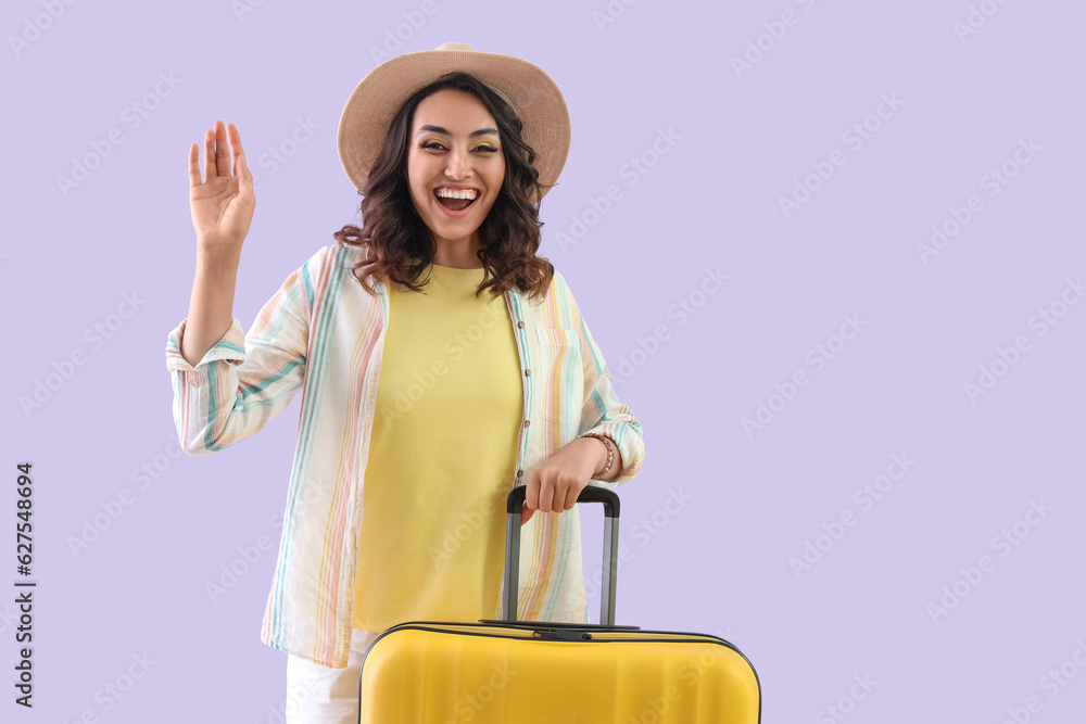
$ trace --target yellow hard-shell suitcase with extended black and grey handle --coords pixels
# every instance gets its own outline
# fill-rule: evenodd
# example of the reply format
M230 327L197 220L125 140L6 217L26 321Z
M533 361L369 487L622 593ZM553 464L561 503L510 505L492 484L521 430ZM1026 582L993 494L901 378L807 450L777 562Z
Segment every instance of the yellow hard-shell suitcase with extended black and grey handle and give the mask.
M503 619L411 621L382 632L358 676L359 724L760 724L754 666L717 636L616 626L618 495L604 504L601 624L510 620L517 611L520 511L508 498Z

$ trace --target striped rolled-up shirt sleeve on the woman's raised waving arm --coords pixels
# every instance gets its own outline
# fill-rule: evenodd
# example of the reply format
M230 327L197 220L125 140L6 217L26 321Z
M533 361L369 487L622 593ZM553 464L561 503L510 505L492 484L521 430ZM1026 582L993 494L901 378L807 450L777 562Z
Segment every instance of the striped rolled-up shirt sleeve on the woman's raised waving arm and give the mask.
M174 389L174 424L189 455L206 455L260 432L302 388L312 304L311 262L293 271L242 334L230 329L203 358L181 356L188 319L166 340L166 368Z

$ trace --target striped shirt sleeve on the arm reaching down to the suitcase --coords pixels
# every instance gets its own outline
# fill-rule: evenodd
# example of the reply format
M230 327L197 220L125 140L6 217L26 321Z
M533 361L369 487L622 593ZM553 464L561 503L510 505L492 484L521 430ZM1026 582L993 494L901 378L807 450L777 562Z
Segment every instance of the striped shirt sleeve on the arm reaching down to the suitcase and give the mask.
M610 370L604 360L603 352L592 338L589 325L584 320L572 293L560 274L555 272L563 291L570 295L572 318L576 323L577 336L581 346L581 364L584 371L584 402L581 407L579 435L593 432L606 435L615 441L622 467L613 481L592 481L593 485L613 488L629 483L641 471L645 461L645 442L642 436L641 420L630 406L619 401L611 388Z

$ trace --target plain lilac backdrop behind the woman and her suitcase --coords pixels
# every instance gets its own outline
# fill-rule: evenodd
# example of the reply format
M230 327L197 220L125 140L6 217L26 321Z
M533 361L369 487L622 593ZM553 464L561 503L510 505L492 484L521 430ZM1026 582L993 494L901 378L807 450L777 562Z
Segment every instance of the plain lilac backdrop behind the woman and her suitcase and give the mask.
M286 655L258 634L298 403L235 448L172 457L164 347L194 270L187 152L216 118L235 123L261 183L235 306L248 330L291 270L358 220L336 128L376 65L370 49L397 27L395 52L455 40L529 59L569 103L573 141L542 207L541 253L577 294L647 449L619 490L633 554L619 623L734 642L761 677L768 723L998 723L1009 708L1022 721L1030 697L1040 704L1031 721L1086 712L1086 671L1072 659L1086 662L1086 304L1060 306L1063 293L1078 301L1066 280L1086 272L1081 3L616 0L622 14L602 27L603 0L434 0L429 16L420 2L55 4L50 20L42 2L8 3L2 24L14 101L3 114L11 482L0 499L12 531L14 465L33 461L39 582L33 711L12 703L16 610L14 594L0 595L5 721L88 710L111 723L281 721ZM971 9L985 22L959 37ZM772 26L786 11L794 24ZM35 22L48 25L38 36ZM20 36L36 39L15 49ZM759 36L768 50L736 72L732 59ZM160 74L179 80L154 99ZM136 127L125 109L148 93L155 107ZM883 94L901 104L880 119ZM264 154L299 118L318 128L273 170ZM864 119L879 128L856 149L843 134ZM111 129L123 143L62 190L59 177ZM654 158L659 129L679 138ZM983 177L1005 162L1014 170L1030 139L1039 150L989 195ZM844 165L786 216L779 199L834 150ZM627 164L642 154L655 165L631 183ZM610 185L621 198L592 217ZM983 208L925 264L918 244L971 194ZM572 217L593 225L564 244ZM729 279L699 296L706 267ZM125 294L139 306L122 319ZM669 316L680 297L696 314ZM1035 315L1050 306L1065 314L1041 334ZM816 370L808 351L849 314L866 325ZM110 339L87 335L111 319ZM667 339L637 352L660 326ZM1028 350L970 399L963 385L1018 335ZM24 411L21 399L77 352L85 364ZM796 370L808 384L747 434L742 419ZM863 510L854 493L895 454L914 463ZM131 505L73 552L125 488ZM680 492L686 503L669 506ZM1040 500L1051 510L1020 522ZM797 576L790 558L843 513L855 524ZM586 572L598 568L597 518L585 509ZM995 546L1015 522L1026 536ZM0 536L8 588L14 533ZM212 602L205 584L261 536L270 549ZM982 556L994 569L968 584L962 569ZM933 615L956 582L968 594ZM144 652L147 674L123 699L103 698ZM1044 678L1061 664L1065 684ZM863 694L854 676L876 685Z

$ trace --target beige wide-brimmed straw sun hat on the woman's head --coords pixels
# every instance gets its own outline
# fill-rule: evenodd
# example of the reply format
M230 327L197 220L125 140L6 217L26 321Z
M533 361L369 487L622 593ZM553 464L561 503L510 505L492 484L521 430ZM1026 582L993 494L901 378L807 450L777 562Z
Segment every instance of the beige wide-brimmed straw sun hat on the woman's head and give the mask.
M516 110L523 124L523 141L535 151L541 193L546 195L569 155L569 109L561 90L534 63L515 55L481 53L466 42L446 42L435 50L396 55L362 79L343 107L336 139L348 178L362 189L404 101L454 71L475 76Z

